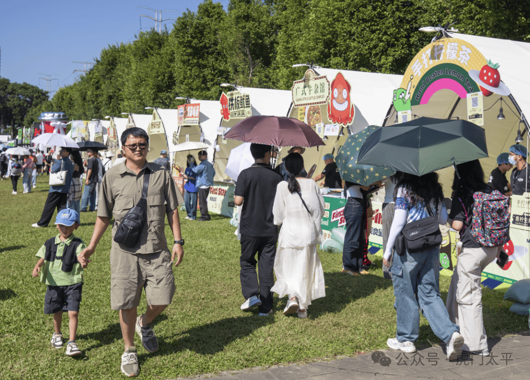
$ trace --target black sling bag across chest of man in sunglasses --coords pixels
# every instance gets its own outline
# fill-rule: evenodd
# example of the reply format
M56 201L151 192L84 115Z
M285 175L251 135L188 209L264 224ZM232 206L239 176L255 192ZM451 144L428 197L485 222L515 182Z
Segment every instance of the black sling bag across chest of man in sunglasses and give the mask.
M114 241L118 244L133 248L140 240L140 235L144 229L145 214L147 208L147 189L149 187L149 176L151 171L146 167L144 174L144 187L142 189L142 198L136 206L131 208L121 220L120 225L114 234Z

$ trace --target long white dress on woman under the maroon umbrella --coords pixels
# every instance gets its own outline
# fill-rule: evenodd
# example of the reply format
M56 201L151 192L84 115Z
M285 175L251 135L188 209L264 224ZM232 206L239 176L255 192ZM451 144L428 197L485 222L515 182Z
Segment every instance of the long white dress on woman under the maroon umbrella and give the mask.
M296 297L299 308L305 309L313 299L326 295L324 271L316 252L317 244L322 242L320 222L324 198L315 181L305 178L297 178L297 181L311 215L298 194L289 192L287 182L280 182L272 209L274 224L282 226L274 261L276 283L271 291L280 298Z

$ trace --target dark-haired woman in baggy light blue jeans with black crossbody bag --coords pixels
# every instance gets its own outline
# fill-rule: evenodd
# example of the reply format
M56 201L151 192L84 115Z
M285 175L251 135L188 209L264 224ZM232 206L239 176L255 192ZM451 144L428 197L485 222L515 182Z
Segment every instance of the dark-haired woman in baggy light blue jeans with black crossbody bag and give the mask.
M444 193L438 183L438 174L422 176L403 174L394 190L395 213L383 257L388 267L396 237L405 223L429 216L437 216L439 224L447 222ZM427 318L432 331L446 343L447 358L456 359L462 352L464 339L458 326L451 322L444 301L440 298L438 284L440 246L431 246L416 253L405 250L402 256L394 255L392 283L396 298L396 337L386 341L388 347L403 352L416 352L420 313ZM419 310L418 310L419 308Z

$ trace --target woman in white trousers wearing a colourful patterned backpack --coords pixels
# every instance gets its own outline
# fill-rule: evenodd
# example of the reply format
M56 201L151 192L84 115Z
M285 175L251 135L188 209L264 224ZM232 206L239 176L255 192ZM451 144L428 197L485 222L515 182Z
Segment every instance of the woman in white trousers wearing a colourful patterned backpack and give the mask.
M484 247L471 235L469 223L473 214L473 194L491 193L484 182L479 160L456 165L453 179L453 202L449 223L460 231L462 249L453 270L447 292L447 312L460 325L465 344L462 348L475 355L489 355L486 330L482 317L481 273L500 251L500 247ZM467 216L467 217L466 217Z

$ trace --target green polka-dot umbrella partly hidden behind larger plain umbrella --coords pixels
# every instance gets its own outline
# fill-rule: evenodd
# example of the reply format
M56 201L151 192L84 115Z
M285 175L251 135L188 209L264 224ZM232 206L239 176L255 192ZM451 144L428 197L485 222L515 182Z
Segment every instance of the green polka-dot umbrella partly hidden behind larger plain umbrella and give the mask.
M378 129L381 129L381 127L369 126L355 135L348 136L339 153L337 153L337 157L335 157L340 177L343 180L367 186L394 174L394 170L387 167L357 164L357 156L361 145L363 145L368 136Z

